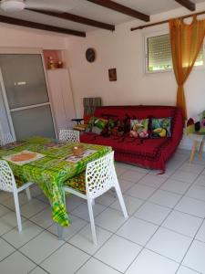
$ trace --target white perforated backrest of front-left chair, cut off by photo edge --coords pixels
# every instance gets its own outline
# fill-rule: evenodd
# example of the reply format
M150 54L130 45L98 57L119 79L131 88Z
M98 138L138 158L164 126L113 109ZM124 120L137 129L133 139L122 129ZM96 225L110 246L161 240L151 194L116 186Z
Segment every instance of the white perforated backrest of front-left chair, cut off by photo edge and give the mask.
M13 192L15 188L15 176L9 164L3 160L0 160L0 189Z

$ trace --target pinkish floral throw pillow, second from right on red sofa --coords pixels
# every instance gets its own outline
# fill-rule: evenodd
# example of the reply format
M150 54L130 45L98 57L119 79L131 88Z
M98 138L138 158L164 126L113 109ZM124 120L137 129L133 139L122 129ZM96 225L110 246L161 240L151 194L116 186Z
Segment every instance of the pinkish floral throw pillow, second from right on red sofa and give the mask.
M130 137L148 138L149 137L149 119L130 120Z

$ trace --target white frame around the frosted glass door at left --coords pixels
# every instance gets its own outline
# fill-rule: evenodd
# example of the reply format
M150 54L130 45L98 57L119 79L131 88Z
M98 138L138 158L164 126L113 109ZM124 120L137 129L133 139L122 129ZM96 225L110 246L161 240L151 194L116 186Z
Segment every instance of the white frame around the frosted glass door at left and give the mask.
M40 55L41 56L41 61L42 61L42 65L43 65L43 70L44 70L44 76L45 76L45 81L46 81L46 90L47 90L47 96L48 96L48 102L46 103L40 103L37 105L32 105L30 108L35 108L35 107L40 107L43 105L49 105L50 106L50 110L51 110L51 117L52 117L52 121L53 121L53 125L54 125L54 132L55 132L55 136L57 137L57 131L56 131L56 119L55 119L55 112L54 112L54 108L53 108L53 102L52 102L52 96L51 96L51 91L49 90L49 85L48 85L48 79L47 79L47 73L46 73L46 65L45 65L45 59L44 59L44 54L43 54L43 48L25 48L25 47L0 47L0 54L21 54L21 55ZM14 125L13 125L13 121L12 121L12 117L11 117L11 110L9 109L9 105L8 105L8 101L7 101L7 97L6 97L6 91L5 91L5 83L4 83L4 79L3 79L3 75L2 75L2 70L0 68L0 85L2 88L2 92L3 92L3 99L4 99L4 104L5 104L5 111L6 111L6 115L7 115L7 121L8 121L8 126L10 128L10 131L14 137L14 139L16 140L15 137L15 129L14 129ZM22 110L26 110L29 109L28 107L22 107L22 108L16 108L15 110L20 111L20 109ZM14 110L13 110L14 111Z

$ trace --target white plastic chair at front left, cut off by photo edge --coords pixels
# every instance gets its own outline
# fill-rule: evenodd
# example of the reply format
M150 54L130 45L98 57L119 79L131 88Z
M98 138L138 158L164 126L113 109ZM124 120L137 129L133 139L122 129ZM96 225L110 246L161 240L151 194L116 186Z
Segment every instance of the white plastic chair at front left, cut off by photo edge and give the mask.
M17 219L18 231L22 231L20 207L18 202L18 193L26 190L27 199L31 199L29 186L33 183L26 183L19 187L15 184L15 176L9 166L9 164L3 160L0 160L0 190L11 192L15 199L15 214Z

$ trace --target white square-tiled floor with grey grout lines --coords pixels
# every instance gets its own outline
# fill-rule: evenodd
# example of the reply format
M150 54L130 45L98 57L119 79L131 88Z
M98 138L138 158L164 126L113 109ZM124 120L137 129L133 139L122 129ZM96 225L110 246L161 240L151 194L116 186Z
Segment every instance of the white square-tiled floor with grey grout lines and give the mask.
M67 197L72 224L58 240L49 204L36 186L29 203L20 195L21 234L13 197L0 192L0 273L205 274L205 155L192 165L189 155L179 149L161 175L117 163L129 217L122 216L113 193L97 198L97 246L84 200Z

